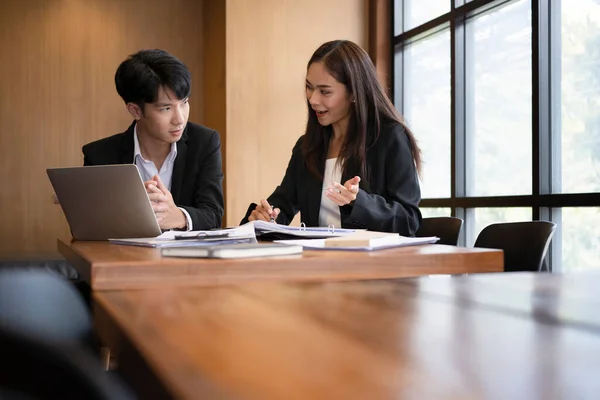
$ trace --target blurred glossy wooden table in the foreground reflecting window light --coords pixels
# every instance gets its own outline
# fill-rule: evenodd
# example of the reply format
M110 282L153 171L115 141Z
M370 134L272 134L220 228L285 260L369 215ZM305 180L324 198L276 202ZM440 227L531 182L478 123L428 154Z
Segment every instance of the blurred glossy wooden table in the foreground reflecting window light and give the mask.
M599 286L512 273L94 296L142 398L546 400L600 393Z

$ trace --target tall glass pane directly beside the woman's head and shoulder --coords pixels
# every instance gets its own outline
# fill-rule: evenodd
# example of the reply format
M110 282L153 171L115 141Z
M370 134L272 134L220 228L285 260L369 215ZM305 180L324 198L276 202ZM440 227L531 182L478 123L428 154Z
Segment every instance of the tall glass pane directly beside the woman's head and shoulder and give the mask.
M450 197L450 31L404 50L404 117L423 154L421 195Z

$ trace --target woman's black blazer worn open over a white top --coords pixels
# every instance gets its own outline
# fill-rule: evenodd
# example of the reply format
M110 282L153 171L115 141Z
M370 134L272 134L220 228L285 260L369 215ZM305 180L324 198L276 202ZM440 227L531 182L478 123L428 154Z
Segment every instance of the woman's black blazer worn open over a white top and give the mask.
M283 181L267 201L281 210L277 223L288 225L300 211L306 226L319 226L323 181L306 166L301 149L303 137L294 146ZM368 176L361 176L354 205L340 207L342 228L414 236L421 223L421 189L402 125L395 123L381 130L377 141L367 150L367 170ZM358 168L348 168L341 183L355 175L360 176ZM250 205L242 223L255 207L256 204Z

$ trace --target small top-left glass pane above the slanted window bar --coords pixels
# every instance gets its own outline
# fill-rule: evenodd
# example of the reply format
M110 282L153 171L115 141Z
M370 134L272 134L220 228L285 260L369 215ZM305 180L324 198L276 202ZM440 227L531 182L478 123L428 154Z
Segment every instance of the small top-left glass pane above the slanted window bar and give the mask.
M394 35L450 12L450 2L451 0L394 0Z

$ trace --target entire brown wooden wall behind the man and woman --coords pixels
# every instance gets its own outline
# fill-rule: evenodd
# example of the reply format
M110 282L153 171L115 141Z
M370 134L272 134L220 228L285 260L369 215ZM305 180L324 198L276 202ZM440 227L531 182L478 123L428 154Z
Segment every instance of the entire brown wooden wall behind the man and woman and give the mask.
M194 79L190 120L221 133L226 224L280 182L306 119L305 66L331 39L367 46L367 0L0 2L0 258L56 254L69 237L46 168L125 130L114 72L163 48Z

